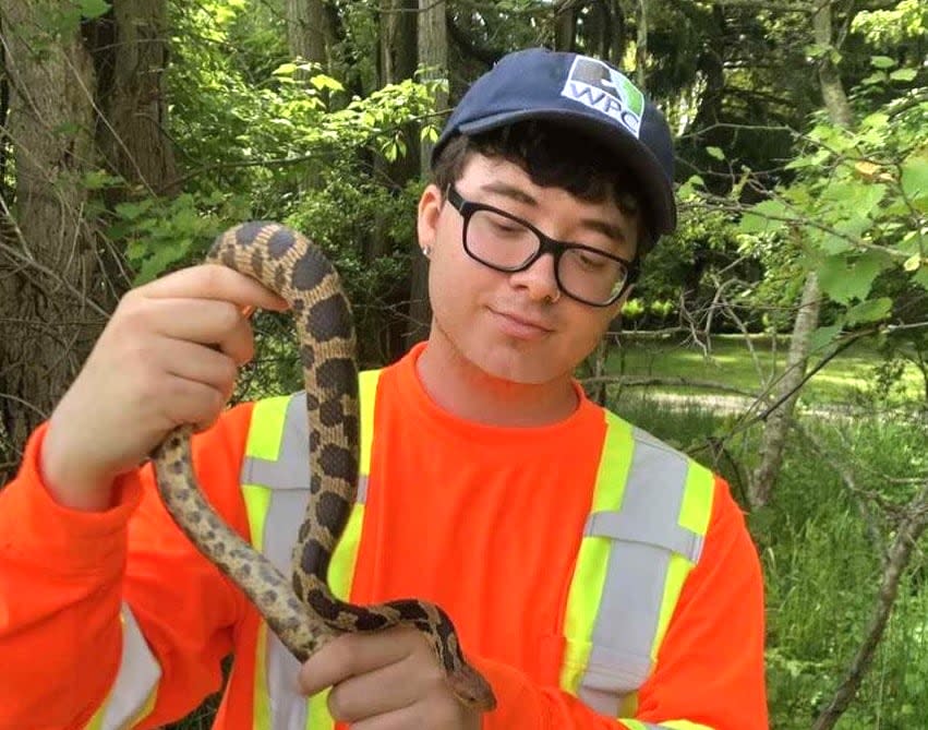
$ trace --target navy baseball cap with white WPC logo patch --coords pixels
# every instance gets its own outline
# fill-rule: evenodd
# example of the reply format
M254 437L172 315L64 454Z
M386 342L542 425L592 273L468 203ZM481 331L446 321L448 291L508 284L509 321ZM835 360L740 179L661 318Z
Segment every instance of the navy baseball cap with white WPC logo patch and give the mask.
M640 186L654 237L676 228L674 146L664 116L620 71L589 56L544 48L504 56L451 112L432 165L458 134L530 119L576 127L613 151Z

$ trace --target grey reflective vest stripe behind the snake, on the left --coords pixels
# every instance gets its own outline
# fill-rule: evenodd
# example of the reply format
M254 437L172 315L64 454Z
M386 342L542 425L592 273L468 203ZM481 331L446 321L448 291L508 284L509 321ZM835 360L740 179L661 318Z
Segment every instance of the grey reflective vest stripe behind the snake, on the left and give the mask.
M287 403L277 458L245 456L242 462L241 483L272 491L264 522L263 552L284 575L290 574L293 546L310 499L309 443L306 394L301 391L290 396ZM363 504L366 498L367 476L362 475L355 502ZM300 663L274 632L266 627L263 631L267 637L265 666L270 727L274 730L305 730L308 704L298 692L296 681Z

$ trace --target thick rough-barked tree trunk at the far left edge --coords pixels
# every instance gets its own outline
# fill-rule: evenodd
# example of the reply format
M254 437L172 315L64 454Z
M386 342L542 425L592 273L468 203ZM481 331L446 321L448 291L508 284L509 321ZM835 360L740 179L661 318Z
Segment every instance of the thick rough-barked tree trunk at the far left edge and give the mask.
M4 206L0 229L0 422L17 451L51 412L106 320L94 301L100 264L84 217L83 176L97 167L94 73L76 25L43 25L58 7L8 2L2 36L15 203Z

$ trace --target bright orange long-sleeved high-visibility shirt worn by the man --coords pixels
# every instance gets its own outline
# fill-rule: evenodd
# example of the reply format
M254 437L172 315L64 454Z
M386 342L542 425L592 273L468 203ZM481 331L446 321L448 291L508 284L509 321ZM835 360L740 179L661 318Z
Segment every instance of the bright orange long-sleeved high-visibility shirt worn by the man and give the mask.
M420 352L381 376L352 600L415 596L443 606L496 691L485 730L625 727L557 687L601 412L583 399L568 419L542 428L461 421L424 393ZM194 439L201 483L242 535L239 470L251 411L232 408ZM220 660L234 651L215 727L251 728L256 612L173 525L149 468L119 480L107 512L57 505L38 470L44 433L0 491L0 730L87 722L118 671L123 600L162 669L155 709L138 727L196 707L220 686ZM639 698L641 721L768 727L759 563L721 480L701 561Z

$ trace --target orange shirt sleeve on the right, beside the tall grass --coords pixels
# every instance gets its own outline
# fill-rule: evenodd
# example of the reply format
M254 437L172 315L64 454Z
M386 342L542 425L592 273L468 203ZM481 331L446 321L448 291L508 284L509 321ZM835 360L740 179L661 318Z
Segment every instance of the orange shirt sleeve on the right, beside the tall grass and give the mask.
M598 715L559 689L474 658L498 699L485 730L767 730L763 585L744 517L721 479L702 557L680 593L634 718ZM642 725L644 723L644 725Z

